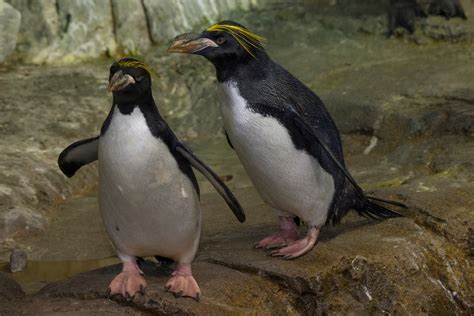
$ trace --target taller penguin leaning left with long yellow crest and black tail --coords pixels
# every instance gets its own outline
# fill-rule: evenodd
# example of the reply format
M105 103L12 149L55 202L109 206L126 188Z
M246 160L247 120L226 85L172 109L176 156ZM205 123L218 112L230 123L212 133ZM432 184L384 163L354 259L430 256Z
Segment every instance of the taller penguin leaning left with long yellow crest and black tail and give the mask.
M168 49L204 56L216 68L229 144L279 216L279 231L256 247L296 258L312 249L321 227L339 222L350 209L368 217L400 216L363 193L346 170L339 132L323 102L273 62L262 41L223 21L176 37ZM308 225L304 238L298 239L295 217Z

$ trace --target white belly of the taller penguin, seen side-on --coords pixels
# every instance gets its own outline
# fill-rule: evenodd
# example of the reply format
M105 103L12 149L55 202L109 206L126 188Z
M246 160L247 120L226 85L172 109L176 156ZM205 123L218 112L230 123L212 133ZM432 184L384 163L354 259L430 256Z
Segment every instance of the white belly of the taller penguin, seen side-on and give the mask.
M263 200L309 225L324 225L334 195L333 177L295 148L278 120L251 111L235 83L224 83L222 90L225 129Z

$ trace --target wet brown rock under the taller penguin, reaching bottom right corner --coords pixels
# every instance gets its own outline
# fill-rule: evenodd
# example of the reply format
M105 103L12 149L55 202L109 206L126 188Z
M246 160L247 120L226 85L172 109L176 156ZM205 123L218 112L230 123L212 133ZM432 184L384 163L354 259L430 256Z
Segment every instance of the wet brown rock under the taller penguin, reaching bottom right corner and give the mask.
M214 214L213 223L221 228L204 231L200 260L283 285L300 313L466 313L454 297L473 302L471 267L457 257L458 245L410 218L378 223L351 214L343 224L325 227L310 253L287 261L251 249L276 229L276 219L251 197L255 193L237 192L252 201L244 205L252 216L246 227L236 227L224 224L225 214ZM206 198L203 203L216 202Z

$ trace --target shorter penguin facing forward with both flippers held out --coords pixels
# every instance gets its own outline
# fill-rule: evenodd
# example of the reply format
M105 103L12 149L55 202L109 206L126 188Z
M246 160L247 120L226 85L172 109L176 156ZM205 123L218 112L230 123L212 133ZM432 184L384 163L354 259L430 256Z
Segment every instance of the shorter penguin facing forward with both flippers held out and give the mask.
M152 96L151 70L136 59L112 64L109 90L113 104L100 136L78 141L59 156L62 172L72 177L99 161L99 205L107 232L123 263L109 295L132 299L146 281L137 258L160 256L176 261L166 289L177 297L199 299L191 272L201 235L199 170L240 222L244 212L222 180L174 135Z

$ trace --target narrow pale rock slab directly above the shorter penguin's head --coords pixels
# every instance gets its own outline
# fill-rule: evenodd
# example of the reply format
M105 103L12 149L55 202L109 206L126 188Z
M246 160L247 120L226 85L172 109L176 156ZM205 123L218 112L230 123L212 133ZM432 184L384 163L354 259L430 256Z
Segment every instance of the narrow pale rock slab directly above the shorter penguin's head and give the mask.
M113 0L115 36L126 55L142 55L151 46L147 17L141 0Z

